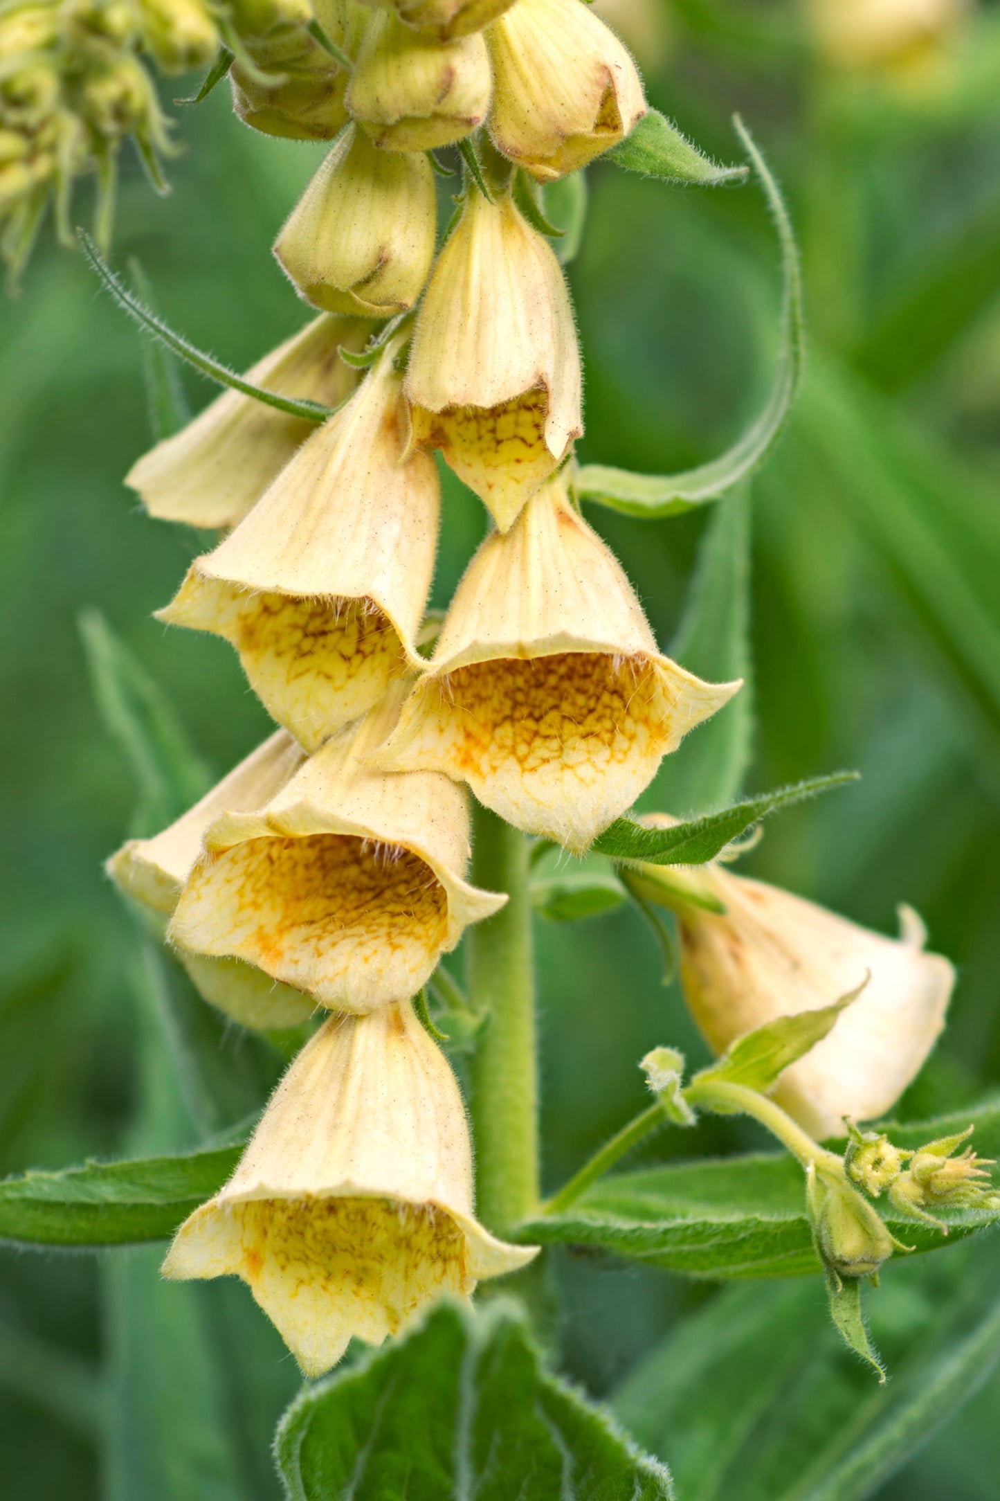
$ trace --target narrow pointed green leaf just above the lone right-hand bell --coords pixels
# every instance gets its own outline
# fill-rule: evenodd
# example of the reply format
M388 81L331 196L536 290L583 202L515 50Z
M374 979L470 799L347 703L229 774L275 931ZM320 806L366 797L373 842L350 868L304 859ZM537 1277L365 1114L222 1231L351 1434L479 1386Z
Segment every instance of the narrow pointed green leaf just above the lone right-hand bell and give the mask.
M667 829L648 829L633 818L616 818L603 835L597 836L591 850L625 863L705 865L769 814L856 781L858 772L814 776L810 781L795 782L792 787L780 787L774 793L763 793L760 797L733 803L732 808L723 808L718 814L703 814L700 818L670 824Z

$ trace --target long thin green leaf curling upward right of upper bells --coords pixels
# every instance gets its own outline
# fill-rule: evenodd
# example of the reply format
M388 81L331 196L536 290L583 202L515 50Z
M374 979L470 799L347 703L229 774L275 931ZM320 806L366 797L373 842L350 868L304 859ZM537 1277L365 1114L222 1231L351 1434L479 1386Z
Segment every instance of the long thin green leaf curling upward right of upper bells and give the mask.
M612 510L621 510L627 516L645 516L646 519L676 516L694 506L705 504L708 500L718 500L733 485L753 474L768 458L784 431L799 390L805 356L799 251L778 185L739 117L736 117L736 131L760 177L781 242L784 300L778 368L763 410L733 447L720 458L682 474L633 474L630 470L610 468L603 464L585 464L577 471L576 489L582 500L610 506ZM613 156L613 153L609 155Z

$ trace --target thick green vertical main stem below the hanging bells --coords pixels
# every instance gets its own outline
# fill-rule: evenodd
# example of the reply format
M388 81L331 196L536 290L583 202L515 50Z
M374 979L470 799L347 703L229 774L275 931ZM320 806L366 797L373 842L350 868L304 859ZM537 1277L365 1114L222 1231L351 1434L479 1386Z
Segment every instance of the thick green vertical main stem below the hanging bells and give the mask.
M510 901L468 935L468 988L486 1024L469 1066L478 1214L499 1235L538 1208L538 1063L528 841L474 812L472 878Z

